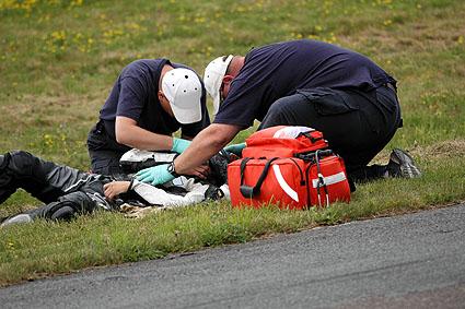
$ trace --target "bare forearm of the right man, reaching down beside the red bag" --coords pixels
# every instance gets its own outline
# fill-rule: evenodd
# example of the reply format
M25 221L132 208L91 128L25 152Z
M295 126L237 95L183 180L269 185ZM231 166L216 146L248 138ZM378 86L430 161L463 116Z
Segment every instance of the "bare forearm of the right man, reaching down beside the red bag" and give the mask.
M193 141L190 146L175 159L176 173L184 174L204 164L221 151L240 131L230 124L210 124Z

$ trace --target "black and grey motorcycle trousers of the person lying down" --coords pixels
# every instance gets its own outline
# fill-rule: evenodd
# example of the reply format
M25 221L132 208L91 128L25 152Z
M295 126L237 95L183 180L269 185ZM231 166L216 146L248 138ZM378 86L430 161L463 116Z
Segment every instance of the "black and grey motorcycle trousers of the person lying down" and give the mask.
M27 152L0 155L0 204L22 188L45 204L27 212L33 218L68 219L91 213L105 201L109 178L43 161Z

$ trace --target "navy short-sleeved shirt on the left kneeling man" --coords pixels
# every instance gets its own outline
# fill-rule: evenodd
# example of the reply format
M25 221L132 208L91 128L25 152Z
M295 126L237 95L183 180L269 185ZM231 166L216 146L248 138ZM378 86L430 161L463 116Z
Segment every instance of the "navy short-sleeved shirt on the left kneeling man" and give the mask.
M210 124L206 106L206 91L202 84L202 119L190 124L181 124L162 108L158 92L159 80L165 64L173 68L190 68L171 63L167 59L142 59L129 63L118 76L113 90L100 111L105 130L115 139L116 116L124 116L137 121L137 124L153 133L171 135L182 128L183 135L195 136ZM193 70L194 71L194 70Z

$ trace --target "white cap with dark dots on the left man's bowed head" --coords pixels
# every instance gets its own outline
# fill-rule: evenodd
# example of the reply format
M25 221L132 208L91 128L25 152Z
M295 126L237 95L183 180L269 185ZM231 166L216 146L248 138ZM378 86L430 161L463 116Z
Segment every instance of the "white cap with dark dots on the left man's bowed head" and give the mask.
M201 83L195 72L184 68L167 71L162 91L177 121L185 124L201 120Z

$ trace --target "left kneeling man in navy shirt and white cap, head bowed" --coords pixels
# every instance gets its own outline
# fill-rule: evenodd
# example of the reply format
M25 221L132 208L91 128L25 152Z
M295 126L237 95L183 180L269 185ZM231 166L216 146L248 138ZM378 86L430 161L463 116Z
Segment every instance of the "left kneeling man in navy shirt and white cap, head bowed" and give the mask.
M119 175L119 158L130 148L182 153L210 124L206 92L188 67L167 59L143 59L119 74L88 136L92 171ZM172 133L182 129L182 139ZM189 174L202 177L205 166Z

